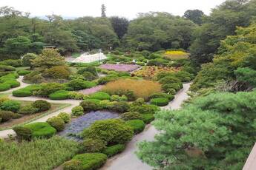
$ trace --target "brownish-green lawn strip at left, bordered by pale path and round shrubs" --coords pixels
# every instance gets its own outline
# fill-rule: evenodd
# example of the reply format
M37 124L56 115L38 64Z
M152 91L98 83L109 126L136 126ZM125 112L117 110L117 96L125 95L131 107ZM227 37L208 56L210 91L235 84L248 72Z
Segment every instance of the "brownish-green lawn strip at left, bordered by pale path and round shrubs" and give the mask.
M32 103L32 101L21 101L22 106ZM24 124L30 123L33 120L37 120L39 118L45 117L46 115L50 115L53 112L57 112L60 109L64 109L65 107L70 106L67 103L51 103L50 110L46 112L40 112L33 115L24 115L22 118L19 119L12 119L5 123L0 123L0 130L12 129L14 126L22 126Z

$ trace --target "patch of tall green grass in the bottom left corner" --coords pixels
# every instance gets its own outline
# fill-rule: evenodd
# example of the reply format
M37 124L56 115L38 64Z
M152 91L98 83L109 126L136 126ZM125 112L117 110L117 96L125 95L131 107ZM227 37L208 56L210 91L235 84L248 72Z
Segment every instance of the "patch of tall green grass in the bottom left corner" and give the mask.
M62 137L22 143L3 142L0 145L0 169L54 169L78 154L79 150L79 143Z

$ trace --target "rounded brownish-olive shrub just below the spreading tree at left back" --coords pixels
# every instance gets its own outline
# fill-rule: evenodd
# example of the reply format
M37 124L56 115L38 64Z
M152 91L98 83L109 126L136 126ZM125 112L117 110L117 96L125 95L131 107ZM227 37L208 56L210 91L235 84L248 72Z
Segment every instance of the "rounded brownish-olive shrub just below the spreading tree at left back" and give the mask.
M65 78L67 79L70 76L70 70L66 66L55 66L50 69L46 69L43 72L45 78Z

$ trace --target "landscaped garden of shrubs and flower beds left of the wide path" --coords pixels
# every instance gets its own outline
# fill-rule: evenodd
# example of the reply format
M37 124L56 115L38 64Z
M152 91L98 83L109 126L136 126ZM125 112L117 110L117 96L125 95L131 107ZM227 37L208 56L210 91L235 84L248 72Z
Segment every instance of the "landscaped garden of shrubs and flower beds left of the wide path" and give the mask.
M57 50L43 50L2 70L2 84L17 83L10 86L16 89L9 96L0 98L0 128L12 128L16 137L1 141L5 156L0 169L36 169L36 159L42 160L40 169L98 169L122 152L160 107L174 100L183 83L194 78L186 59L172 61L163 52L114 53L102 63L83 64L66 63ZM25 85L18 87L17 78ZM33 101L23 101L26 98ZM77 105L61 112L70 106L68 101ZM46 115L53 116L35 121ZM43 151L38 147L52 156L35 155ZM21 154L7 160L12 148ZM30 149L26 160L19 158ZM10 164L13 159L19 161Z

